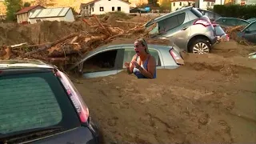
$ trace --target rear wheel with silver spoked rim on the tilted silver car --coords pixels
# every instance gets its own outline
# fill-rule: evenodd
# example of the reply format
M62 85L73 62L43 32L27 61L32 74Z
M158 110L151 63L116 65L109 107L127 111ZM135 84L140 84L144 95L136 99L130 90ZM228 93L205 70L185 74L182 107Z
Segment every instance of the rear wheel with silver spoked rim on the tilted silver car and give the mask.
M210 43L206 39L198 38L189 47L189 52L193 54L209 54Z

